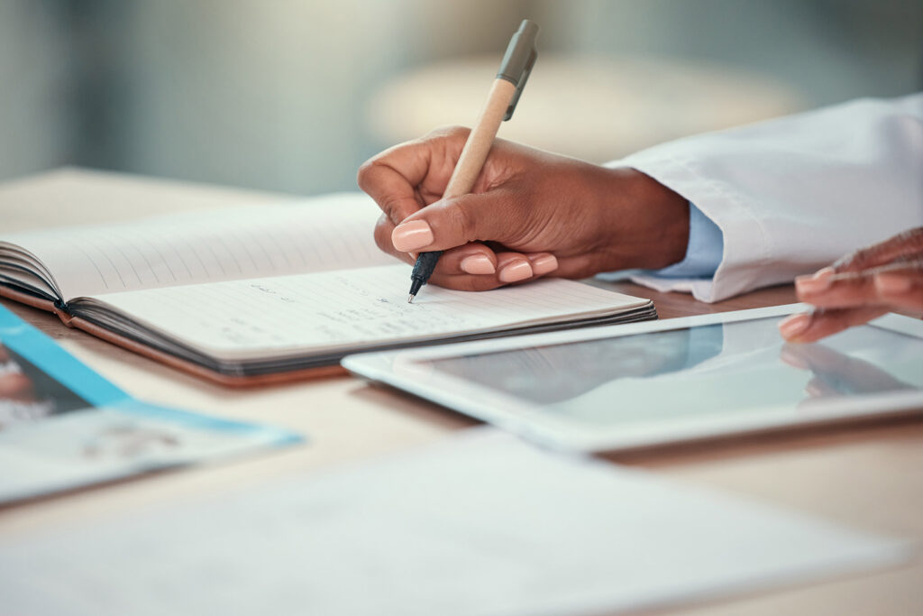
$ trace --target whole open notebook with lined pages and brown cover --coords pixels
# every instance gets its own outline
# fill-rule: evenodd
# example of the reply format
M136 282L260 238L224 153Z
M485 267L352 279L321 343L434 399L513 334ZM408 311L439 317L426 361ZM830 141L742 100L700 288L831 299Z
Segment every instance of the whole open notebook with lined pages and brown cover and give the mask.
M378 214L348 193L0 236L0 295L226 384L327 373L356 351L656 317L649 300L557 279L429 285L409 305L410 266L372 240Z

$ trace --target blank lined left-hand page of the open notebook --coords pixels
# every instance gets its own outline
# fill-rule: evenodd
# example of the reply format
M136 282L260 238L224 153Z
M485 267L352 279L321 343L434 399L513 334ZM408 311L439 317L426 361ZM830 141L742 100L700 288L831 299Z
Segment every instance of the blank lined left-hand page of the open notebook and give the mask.
M361 193L0 236L34 255L63 297L353 268L394 260Z

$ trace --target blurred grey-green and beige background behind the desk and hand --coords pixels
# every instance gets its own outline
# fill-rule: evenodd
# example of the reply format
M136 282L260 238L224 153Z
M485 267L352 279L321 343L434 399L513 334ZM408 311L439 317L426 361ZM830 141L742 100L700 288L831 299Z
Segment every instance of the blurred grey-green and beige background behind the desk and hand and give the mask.
M316 194L470 126L522 18L501 137L604 162L923 90L920 0L0 0L0 180L82 165Z

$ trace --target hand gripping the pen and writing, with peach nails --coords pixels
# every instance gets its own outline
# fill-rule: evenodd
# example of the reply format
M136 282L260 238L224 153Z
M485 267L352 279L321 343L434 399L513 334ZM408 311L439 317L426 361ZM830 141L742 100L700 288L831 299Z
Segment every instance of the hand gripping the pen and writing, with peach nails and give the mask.
M583 278L682 260L689 204L633 169L607 169L497 139L472 194L440 200L465 128L395 146L359 169L384 211L378 247L408 263L445 250L431 282L486 290L554 273Z

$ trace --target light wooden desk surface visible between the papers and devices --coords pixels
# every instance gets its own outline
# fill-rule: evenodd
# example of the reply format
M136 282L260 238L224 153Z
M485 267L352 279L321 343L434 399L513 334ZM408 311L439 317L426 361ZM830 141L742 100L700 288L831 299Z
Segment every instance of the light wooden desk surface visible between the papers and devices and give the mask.
M0 226L3 231L12 231L50 223L126 220L163 211L280 199L294 198L66 169L0 185ZM624 293L653 298L665 319L794 300L788 286L712 305L689 296L654 293L634 284L613 286ZM436 405L348 377L256 390L224 389L68 329L50 314L13 302L3 304L138 397L285 426L308 435L310 443L228 464L162 473L0 509L0 537L52 528L75 519L105 520L143 510L158 501L218 494L296 470L320 471L367 460L436 441L451 430L475 423ZM923 422L918 420L609 457L860 529L923 539ZM657 613L923 613L923 562L821 585Z

